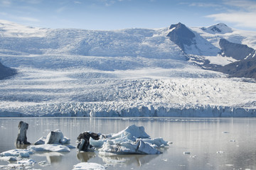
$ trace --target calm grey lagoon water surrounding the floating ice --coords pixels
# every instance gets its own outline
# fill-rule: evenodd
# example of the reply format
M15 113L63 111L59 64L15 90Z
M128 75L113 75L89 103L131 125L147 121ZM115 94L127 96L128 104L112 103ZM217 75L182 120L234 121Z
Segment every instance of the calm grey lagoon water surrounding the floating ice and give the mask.
M173 142L159 155L107 157L97 152L77 153L76 149L68 153L37 152L31 159L50 166L35 164L35 169L73 169L79 162L95 162L107 165L107 169L256 169L255 118L1 118L0 152L15 148L20 120L29 124L28 142L60 129L75 146L80 132L108 134L132 124L144 126L152 138ZM217 153L220 151L224 153Z

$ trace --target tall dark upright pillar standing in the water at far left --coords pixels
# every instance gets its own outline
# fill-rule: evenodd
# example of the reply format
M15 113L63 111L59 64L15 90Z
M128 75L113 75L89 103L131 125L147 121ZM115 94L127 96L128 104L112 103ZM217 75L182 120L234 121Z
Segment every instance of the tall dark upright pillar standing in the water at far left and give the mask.
M28 123L24 123L23 121L20 121L18 123L18 137L16 139L16 144L31 145L31 143L27 141L27 137L26 137L27 130L28 130Z

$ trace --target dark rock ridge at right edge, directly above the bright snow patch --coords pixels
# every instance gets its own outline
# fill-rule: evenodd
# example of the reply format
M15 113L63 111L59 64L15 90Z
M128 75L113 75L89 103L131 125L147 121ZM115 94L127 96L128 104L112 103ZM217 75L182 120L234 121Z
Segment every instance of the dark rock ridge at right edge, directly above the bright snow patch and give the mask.
M255 55L255 50L247 45L229 42L225 39L220 39L221 55L224 57L233 57L235 60L250 59Z

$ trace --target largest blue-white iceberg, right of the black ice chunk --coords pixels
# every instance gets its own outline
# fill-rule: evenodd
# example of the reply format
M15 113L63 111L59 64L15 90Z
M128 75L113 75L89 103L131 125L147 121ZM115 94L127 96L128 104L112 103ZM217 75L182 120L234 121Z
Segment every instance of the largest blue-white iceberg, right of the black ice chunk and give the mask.
M90 144L99 149L100 154L161 154L156 147L168 146L161 137L151 139L144 127L130 125L116 134L100 135L100 140L90 138Z

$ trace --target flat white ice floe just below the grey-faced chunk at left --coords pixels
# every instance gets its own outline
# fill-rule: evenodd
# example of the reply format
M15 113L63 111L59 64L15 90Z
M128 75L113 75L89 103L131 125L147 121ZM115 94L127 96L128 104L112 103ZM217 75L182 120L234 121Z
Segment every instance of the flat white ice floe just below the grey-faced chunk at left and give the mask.
M54 144L46 144L46 145L36 145L31 146L30 149L36 152L70 152L70 149L65 145L54 145Z

